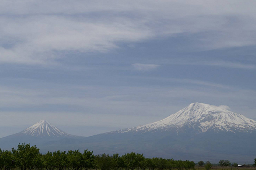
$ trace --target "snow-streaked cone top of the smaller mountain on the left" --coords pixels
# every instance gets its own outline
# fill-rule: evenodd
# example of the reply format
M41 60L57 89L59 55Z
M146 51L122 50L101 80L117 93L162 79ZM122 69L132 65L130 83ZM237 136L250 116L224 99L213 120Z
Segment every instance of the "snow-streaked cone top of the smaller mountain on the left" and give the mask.
M52 125L46 120L40 120L38 123L26 128L20 132L35 137L67 137L73 136L64 131L59 130L56 126Z

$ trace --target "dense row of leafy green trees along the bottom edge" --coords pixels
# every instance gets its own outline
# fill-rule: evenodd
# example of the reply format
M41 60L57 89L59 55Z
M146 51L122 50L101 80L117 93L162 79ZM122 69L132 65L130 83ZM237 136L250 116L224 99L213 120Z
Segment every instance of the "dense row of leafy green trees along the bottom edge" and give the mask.
M86 149L84 152L70 150L41 154L36 146L24 143L11 151L0 149L0 170L191 170L194 167L193 161L145 158L135 152L122 156L93 155Z

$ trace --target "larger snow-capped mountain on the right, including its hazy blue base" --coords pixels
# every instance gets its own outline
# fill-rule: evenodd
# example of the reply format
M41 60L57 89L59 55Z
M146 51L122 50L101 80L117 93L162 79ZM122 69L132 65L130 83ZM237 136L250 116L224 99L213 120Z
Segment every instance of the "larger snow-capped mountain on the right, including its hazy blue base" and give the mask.
M255 140L256 121L222 107L192 103L154 123L90 136L77 149L88 148L95 154L138 152L146 157L244 162L254 159Z

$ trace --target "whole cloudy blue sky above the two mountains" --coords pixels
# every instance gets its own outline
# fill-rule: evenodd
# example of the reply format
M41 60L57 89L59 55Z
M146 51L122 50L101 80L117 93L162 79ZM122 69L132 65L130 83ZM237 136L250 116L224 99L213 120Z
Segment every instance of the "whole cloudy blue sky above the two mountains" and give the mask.
M256 1L2 0L0 138L91 136L193 102L256 119Z

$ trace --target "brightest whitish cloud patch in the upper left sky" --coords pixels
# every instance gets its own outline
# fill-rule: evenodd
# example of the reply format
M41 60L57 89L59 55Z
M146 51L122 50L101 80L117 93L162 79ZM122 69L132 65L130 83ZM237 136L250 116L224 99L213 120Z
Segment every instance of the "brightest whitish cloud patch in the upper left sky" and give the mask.
M44 64L64 58L65 52L107 52L117 42L136 42L150 37L150 30L130 19L91 21L55 15L0 18L0 63ZM141 25L141 27L138 27ZM17 29L19 28L19 29ZM6 47L5 47L6 46Z

